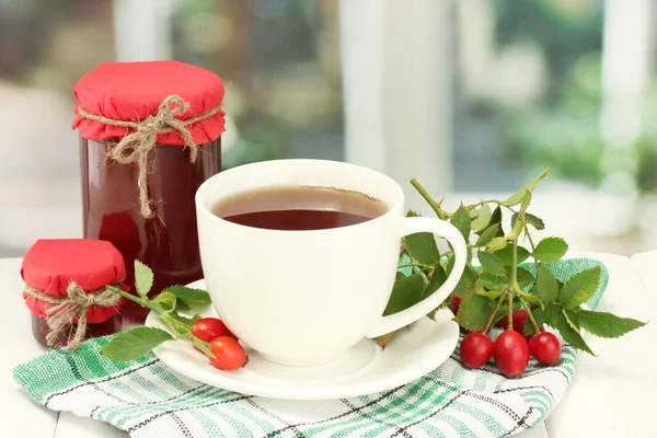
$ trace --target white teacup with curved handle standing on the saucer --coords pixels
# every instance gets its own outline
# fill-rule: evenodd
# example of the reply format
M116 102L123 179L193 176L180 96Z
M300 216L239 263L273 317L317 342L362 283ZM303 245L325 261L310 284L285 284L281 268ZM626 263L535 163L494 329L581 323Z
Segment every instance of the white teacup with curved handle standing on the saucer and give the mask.
M211 212L221 199L276 186L357 191L382 200L388 212L316 231L245 227ZM203 270L219 316L242 342L284 365L328 362L364 337L417 321L448 297L465 266L465 241L454 227L439 219L406 218L400 185L354 164L274 160L230 169L198 188L196 214ZM451 243L454 268L430 297L382 316L401 239L423 231Z

